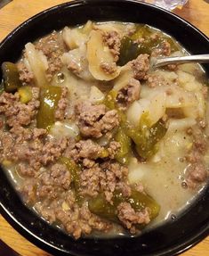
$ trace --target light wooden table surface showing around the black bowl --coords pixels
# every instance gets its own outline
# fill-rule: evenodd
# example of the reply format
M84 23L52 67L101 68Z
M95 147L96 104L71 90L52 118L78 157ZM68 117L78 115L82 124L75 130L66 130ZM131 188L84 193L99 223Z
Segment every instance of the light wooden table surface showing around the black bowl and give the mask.
M0 41L22 21L48 7L65 2L68 1L13 0L10 4L5 5L3 9L0 9ZM209 0L189 0L185 7L175 12L197 26L198 29L202 30L209 37ZM30 244L24 237L18 234L2 216L0 216L0 239L22 256L49 256L47 252ZM188 252L182 253L181 256L209 256L209 236Z

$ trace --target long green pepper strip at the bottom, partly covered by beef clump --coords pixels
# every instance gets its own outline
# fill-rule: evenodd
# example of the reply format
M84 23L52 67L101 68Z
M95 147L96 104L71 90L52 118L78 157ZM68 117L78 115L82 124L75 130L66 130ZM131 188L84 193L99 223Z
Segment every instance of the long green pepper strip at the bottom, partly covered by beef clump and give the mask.
M98 194L88 201L89 210L92 211L92 213L99 215L101 218L114 222L119 222L117 219L117 206L121 202L129 202L135 211L142 211L148 207L150 211L150 219L155 219L160 210L159 205L154 199L149 195L142 194L136 190L132 190L132 195L130 197L125 197L120 191L115 191L112 202L112 204L107 202L104 194Z

